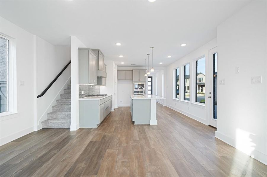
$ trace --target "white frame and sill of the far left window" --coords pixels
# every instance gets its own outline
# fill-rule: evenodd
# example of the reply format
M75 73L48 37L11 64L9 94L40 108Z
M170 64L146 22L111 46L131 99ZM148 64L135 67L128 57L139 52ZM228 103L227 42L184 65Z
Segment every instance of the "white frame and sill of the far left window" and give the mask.
M0 37L9 40L9 111L0 113L0 121L6 120L4 116L17 114L17 68L16 68L16 40L0 32ZM12 116L11 118L13 118ZM17 115L15 116L17 117Z

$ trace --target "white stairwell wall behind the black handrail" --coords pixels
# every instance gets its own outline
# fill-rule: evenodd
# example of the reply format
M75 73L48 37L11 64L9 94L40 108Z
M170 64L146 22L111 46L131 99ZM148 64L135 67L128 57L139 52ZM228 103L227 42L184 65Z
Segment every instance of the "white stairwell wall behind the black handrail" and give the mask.
M37 94L49 85L57 74L71 60L69 45L52 45L36 37L36 90ZM47 113L52 111L56 99L60 99L60 91L71 76L71 65L60 75L44 96L37 99L37 130L41 129L41 122L47 119Z

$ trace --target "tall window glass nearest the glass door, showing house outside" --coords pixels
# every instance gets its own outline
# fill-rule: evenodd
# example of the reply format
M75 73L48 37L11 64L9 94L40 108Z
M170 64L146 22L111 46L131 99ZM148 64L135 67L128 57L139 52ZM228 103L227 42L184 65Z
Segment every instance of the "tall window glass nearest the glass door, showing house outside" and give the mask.
M196 102L205 103L205 57L196 60Z

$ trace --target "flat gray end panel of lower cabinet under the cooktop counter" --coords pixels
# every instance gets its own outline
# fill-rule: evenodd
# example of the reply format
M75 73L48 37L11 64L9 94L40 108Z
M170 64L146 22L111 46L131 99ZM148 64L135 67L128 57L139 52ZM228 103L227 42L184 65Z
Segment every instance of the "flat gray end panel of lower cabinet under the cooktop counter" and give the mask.
M99 124L98 100L79 100L79 123L81 128L94 128Z

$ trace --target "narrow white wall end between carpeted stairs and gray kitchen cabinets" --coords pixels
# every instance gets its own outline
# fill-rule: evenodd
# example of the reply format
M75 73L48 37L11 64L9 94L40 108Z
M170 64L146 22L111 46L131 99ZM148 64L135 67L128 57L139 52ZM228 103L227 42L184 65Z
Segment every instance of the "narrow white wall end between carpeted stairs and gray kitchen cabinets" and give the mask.
M79 50L86 47L77 37L71 36L71 131L78 130L79 124Z

